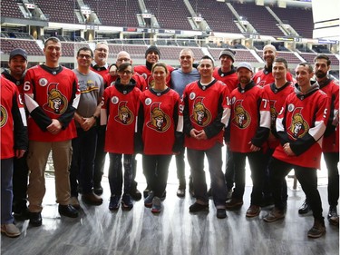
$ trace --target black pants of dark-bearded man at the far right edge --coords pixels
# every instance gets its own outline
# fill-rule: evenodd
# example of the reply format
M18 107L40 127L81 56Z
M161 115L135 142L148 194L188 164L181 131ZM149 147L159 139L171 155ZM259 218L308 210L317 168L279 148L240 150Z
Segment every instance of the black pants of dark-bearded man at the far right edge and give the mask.
M339 152L324 152L324 158L328 171L328 203L336 206L339 199L339 171L337 169Z

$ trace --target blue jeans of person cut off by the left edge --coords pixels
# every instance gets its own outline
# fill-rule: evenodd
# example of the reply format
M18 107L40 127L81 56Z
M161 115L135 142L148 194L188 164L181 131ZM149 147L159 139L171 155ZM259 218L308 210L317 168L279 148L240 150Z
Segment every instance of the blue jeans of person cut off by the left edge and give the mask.
M1 160L1 224L13 223L13 158Z

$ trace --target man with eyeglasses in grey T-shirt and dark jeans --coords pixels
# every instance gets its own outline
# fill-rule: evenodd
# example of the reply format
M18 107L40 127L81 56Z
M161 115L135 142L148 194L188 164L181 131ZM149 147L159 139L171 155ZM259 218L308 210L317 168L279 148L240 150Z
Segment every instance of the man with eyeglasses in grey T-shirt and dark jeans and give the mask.
M82 200L90 205L102 204L102 198L92 191L94 156L97 143L96 122L100 115L103 78L90 69L93 53L89 47L78 50L78 67L73 69L77 75L81 97L74 113L77 137L73 138L73 156L70 169L71 204L79 209L78 183L82 186Z

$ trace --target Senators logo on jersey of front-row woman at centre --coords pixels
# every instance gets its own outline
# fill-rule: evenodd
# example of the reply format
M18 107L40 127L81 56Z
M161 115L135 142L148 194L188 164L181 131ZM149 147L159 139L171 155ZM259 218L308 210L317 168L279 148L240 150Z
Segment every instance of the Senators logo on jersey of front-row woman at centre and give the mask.
M160 103L151 104L151 121L147 126L158 132L166 132L170 128L170 117L160 109Z

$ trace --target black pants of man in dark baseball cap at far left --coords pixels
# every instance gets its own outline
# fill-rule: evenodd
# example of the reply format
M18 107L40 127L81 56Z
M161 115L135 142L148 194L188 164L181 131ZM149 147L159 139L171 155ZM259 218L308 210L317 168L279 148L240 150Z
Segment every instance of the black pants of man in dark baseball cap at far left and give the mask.
M14 158L13 172L13 211L20 213L27 208L28 166L27 152L24 157Z

